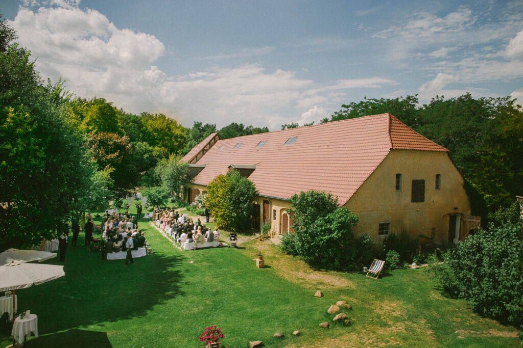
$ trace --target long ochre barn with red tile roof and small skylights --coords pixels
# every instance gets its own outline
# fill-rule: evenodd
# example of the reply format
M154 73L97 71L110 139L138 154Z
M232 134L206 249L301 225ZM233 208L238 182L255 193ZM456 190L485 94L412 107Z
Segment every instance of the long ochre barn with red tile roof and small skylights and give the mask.
M253 227L270 222L272 235L290 230L288 199L308 190L328 191L357 213L356 236L406 232L457 243L480 222L448 150L390 114L231 139L213 133L183 160L190 163L188 202L229 170L253 181Z

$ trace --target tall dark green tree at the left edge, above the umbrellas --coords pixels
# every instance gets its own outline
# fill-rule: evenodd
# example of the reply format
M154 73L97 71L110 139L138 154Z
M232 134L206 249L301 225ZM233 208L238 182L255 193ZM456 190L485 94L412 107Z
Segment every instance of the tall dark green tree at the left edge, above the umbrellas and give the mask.
M14 37L0 21L0 249L51 238L78 208L93 168L63 87L43 85Z

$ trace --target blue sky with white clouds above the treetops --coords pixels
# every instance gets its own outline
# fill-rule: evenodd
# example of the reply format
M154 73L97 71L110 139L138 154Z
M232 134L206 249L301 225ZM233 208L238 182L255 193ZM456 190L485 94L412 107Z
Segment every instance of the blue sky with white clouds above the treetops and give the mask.
M1 4L42 77L187 127L275 130L366 96L523 103L523 1Z

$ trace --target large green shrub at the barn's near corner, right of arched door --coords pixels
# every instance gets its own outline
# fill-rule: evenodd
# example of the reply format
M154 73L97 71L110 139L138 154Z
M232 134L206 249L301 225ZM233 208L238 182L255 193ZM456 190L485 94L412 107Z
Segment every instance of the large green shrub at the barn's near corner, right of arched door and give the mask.
M354 269L356 242L351 227L358 216L338 207L337 198L325 192L302 192L289 201L297 254L315 266Z

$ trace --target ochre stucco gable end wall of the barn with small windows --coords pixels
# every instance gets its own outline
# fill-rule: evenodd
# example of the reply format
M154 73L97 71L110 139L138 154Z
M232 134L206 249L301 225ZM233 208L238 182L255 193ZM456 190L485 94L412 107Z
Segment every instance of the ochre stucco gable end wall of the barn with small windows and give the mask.
M395 189L397 173L402 174L401 191ZM435 188L436 174L441 174L440 190ZM416 179L425 180L424 202L411 202ZM425 235L430 242L447 242L449 214L470 215L462 176L447 153L435 151L391 150L345 207L359 215L355 235L367 232L373 239L378 238L379 223L389 221L390 233L405 231L412 238Z

